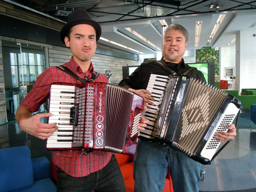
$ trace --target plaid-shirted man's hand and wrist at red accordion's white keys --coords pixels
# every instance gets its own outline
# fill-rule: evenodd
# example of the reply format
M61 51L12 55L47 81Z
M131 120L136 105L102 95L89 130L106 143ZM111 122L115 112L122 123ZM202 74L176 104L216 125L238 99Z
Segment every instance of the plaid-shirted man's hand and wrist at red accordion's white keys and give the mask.
M26 131L32 136L38 137L42 140L51 136L53 131L57 130L56 123L48 124L40 121L41 118L49 117L52 113L38 113L31 116L30 111L25 107L20 106L16 112L16 120L20 130Z

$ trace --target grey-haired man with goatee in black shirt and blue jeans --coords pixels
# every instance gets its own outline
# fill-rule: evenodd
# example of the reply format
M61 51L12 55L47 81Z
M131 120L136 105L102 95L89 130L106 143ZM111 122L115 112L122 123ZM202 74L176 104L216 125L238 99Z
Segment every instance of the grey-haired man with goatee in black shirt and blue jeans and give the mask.
M183 55L188 41L187 30L178 24L166 28L163 35L163 61L172 71L185 73L191 67L186 65ZM144 62L131 76L123 79L119 85L143 96L145 106L154 105L154 98L146 90L151 73L169 75L163 67L154 61ZM196 68L186 75L205 81L203 73ZM216 139L225 142L236 136L235 125L229 126L228 133L221 132ZM159 145L157 142L148 142L140 139L134 159L135 192L162 192L165 185L167 167L172 177L175 192L198 192L200 181L200 163L187 157L175 148L168 145Z

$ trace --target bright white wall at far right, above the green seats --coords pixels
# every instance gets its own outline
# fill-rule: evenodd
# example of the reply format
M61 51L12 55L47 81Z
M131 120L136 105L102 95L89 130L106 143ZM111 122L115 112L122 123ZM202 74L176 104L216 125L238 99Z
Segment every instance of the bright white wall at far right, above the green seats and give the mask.
M239 31L236 43L220 48L220 79L225 67L235 67L234 89L256 88L256 37L255 30Z

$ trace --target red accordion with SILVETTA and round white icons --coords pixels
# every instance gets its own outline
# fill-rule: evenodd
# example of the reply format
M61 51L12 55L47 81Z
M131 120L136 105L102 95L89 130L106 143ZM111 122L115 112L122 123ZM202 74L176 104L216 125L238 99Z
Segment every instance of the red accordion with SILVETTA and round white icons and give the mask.
M48 123L56 122L58 129L47 149L133 155L143 103L143 97L113 84L52 84Z

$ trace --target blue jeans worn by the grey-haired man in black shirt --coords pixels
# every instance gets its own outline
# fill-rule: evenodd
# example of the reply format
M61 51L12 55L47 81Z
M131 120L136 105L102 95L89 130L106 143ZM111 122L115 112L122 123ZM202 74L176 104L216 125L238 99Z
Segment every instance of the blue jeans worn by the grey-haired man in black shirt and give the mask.
M201 164L175 148L139 140L134 158L135 192L162 192L167 167L175 192L198 192Z

